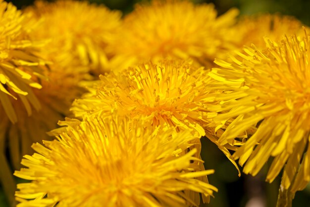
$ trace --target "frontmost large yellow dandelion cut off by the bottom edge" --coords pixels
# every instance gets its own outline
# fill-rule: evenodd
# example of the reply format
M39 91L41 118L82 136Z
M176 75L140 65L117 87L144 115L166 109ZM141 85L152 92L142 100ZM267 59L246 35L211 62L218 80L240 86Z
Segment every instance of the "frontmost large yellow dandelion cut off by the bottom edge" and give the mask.
M111 118L67 127L58 140L33 144L38 153L26 155L22 164L28 168L15 171L32 180L17 185L17 207L198 206L189 194L217 191L196 179L213 170L196 171L195 150L181 153L197 134L172 133Z

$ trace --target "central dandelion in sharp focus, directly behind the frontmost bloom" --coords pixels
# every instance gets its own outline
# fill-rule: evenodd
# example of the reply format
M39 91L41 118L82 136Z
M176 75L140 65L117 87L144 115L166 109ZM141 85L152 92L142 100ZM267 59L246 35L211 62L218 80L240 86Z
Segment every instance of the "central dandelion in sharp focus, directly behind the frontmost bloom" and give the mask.
M229 146L219 145L214 129L208 127L216 116L208 107L217 104L214 94L219 92L208 90L212 79L203 67L197 68L185 61L164 60L157 65L148 62L100 78L98 86L73 102L71 110L77 117L108 117L117 113L149 120L153 127L197 131L216 143L235 164L226 148Z

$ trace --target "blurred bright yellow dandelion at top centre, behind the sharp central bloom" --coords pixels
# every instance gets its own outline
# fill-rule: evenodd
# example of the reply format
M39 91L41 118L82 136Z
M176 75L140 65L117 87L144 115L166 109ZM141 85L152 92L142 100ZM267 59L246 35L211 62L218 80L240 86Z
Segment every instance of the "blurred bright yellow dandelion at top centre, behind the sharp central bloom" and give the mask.
M112 69L125 69L140 61L161 58L192 58L202 65L213 64L235 49L237 9L217 16L213 4L195 5L189 0L153 0L136 5L125 16L110 50L115 53Z

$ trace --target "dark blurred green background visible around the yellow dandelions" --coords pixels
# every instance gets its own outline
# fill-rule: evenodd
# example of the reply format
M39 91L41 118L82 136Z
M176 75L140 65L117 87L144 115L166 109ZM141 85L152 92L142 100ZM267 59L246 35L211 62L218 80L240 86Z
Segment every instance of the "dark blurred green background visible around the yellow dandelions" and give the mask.
M9 0L18 8L31 5L33 0ZM103 3L111 9L122 10L129 13L134 4L141 0L90 0ZM213 3L219 14L226 12L231 7L240 9L241 15L260 12L279 12L293 15L304 24L310 25L310 0L193 0L196 3ZM206 169L215 169L215 174L208 176L209 182L219 190L215 198L211 199L207 207L275 207L280 177L272 184L263 182L267 165L262 172L252 177L242 175L238 177L235 167L227 160L223 153L214 147L207 138L202 138L202 158L206 161ZM0 207L7 207L5 197L0 189ZM204 206L204 205L203 205ZM310 207L310 185L297 192L293 207Z

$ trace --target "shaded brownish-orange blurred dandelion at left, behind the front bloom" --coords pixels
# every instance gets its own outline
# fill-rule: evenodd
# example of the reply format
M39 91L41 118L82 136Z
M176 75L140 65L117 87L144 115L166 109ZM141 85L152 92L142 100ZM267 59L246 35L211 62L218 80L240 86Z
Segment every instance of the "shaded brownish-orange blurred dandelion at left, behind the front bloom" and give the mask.
M17 100L13 107L18 122L12 124L0 109L0 147L3 150L0 151L0 181L10 204L14 201L16 188L11 168L19 169L22 155L33 153L30 147L33 142L52 138L46 132L55 129L58 120L70 116L72 101L85 92L84 88L78 86L83 74L60 69L52 66L48 72L50 81L41 81L43 88L33 91L40 101L41 110L33 111L29 116L23 103Z

